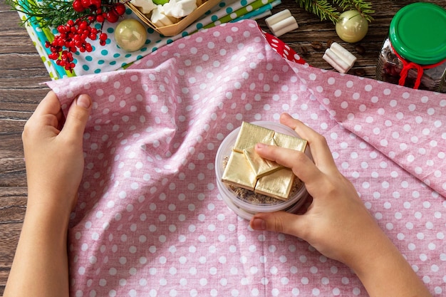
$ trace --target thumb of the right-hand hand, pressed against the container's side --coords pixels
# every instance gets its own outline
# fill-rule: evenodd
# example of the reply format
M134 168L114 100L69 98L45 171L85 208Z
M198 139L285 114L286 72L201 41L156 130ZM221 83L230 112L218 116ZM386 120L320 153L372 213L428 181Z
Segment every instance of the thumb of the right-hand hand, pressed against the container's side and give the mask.
M305 230L304 219L299 214L289 212L261 212L254 214L249 226L254 230L276 231L301 237L301 231Z

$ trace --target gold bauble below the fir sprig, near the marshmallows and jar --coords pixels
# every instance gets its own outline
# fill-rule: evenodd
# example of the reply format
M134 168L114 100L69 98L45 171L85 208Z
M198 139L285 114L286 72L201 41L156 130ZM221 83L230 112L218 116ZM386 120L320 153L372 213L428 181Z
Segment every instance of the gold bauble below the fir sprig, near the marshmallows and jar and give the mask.
M336 33L346 42L360 41L367 31L368 21L356 10L344 11L336 23Z

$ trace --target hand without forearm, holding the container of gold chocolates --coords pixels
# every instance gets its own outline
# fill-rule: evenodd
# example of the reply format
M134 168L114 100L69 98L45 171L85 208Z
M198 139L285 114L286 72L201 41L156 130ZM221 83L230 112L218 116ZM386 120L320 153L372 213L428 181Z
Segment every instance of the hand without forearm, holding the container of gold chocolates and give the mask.
M256 152L290 167L305 183L313 202L302 215L257 214L251 226L298 236L329 258L348 262L357 254L354 243L368 241L370 234L382 231L365 209L353 184L338 171L325 138L290 115L283 114L280 120L308 140L314 162L302 152L282 147L259 144Z

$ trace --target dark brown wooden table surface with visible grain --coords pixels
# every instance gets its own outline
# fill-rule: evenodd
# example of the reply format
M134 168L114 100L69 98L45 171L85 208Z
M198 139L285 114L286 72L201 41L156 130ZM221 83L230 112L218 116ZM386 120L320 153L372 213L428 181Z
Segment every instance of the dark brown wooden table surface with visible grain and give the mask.
M358 57L349 73L375 78L378 51L388 33L390 20L398 9L415 1L372 2L374 21L367 36L355 44L341 41L330 21L320 21L317 16L300 9L293 0L282 0L273 13L283 9L291 11L299 28L281 36L281 39L301 53L311 66L332 69L322 56L327 41L336 41ZM427 2L446 8L445 0ZM0 0L0 19L0 295L3 296L26 209L21 131L38 102L48 92L46 85L41 83L49 80L49 76L26 29L19 25L18 14L11 11L5 0ZM263 19L258 22L265 31L269 31ZM320 42L322 48L314 49L311 46L313 42ZM357 45L363 46L365 53L359 54Z

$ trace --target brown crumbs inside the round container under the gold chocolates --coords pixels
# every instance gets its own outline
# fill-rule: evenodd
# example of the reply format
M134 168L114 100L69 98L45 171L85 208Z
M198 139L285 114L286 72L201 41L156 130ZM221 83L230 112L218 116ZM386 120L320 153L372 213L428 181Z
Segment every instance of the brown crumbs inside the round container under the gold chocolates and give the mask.
M229 156L224 156L223 159L223 169L226 168L227 162L229 160ZM289 194L289 197L293 197L299 189L304 185L304 183L299 178L294 179L293 187L291 188L291 192ZM275 205L275 204L281 204L284 203L284 200L276 199L274 197L269 197L264 194L258 194L254 191L251 191L249 189L244 189L242 187L236 187L232 184L227 184L228 189L230 189L234 196L238 199L248 202L249 204L269 204L269 205Z

